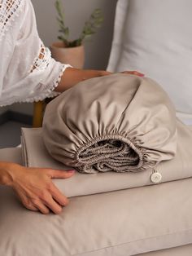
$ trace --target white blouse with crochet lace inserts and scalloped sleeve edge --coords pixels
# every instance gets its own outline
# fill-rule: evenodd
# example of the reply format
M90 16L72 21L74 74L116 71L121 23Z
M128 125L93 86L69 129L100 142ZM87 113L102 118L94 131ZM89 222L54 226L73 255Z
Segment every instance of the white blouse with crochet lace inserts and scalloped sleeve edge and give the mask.
M52 97L70 65L51 58L30 0L0 0L0 106Z

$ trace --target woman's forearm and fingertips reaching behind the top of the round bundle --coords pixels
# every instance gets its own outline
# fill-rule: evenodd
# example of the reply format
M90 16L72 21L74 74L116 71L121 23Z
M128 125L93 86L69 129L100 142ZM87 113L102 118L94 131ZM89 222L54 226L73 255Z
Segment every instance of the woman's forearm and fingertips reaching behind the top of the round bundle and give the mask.
M143 77L143 74L137 71L124 71L122 73L128 73L139 77ZM55 88L55 91L62 92L64 90L68 90L72 86L75 86L78 82L87 80L89 78L103 77L110 74L111 72L107 72L105 70L85 70L77 68L66 68L65 72L63 73L63 76L61 77L61 82L59 83L59 86Z

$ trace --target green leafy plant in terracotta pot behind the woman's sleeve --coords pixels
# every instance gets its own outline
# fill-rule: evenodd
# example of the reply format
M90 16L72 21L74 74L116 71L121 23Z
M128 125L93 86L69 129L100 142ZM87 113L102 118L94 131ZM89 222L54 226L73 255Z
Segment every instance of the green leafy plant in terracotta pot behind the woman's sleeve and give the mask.
M59 42L54 42L50 46L50 51L55 60L61 63L71 64L74 68L83 68L85 61L84 42L90 38L97 29L103 24L103 13L101 9L95 9L90 15L89 20L75 40L69 39L69 28L65 24L65 15L61 0L55 1L57 20L59 23Z

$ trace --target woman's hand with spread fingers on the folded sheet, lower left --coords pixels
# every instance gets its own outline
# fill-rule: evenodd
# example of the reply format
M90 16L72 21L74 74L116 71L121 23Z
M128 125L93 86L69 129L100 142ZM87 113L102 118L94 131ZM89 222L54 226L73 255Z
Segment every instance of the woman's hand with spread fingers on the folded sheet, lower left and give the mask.
M68 205L68 198L55 186L51 179L67 179L74 170L27 168L14 163L0 163L0 183L11 186L20 201L29 210L40 210L42 214L55 214Z

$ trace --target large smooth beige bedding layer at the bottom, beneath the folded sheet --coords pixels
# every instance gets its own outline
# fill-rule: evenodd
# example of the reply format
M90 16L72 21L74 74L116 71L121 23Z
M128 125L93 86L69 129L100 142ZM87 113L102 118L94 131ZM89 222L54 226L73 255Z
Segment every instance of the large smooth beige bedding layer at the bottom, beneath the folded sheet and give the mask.
M20 148L0 150L0 160L20 163ZM60 180L54 182L63 191ZM25 210L1 186L0 255L190 256L191 194L192 179L182 179L72 197L62 214L45 216Z

